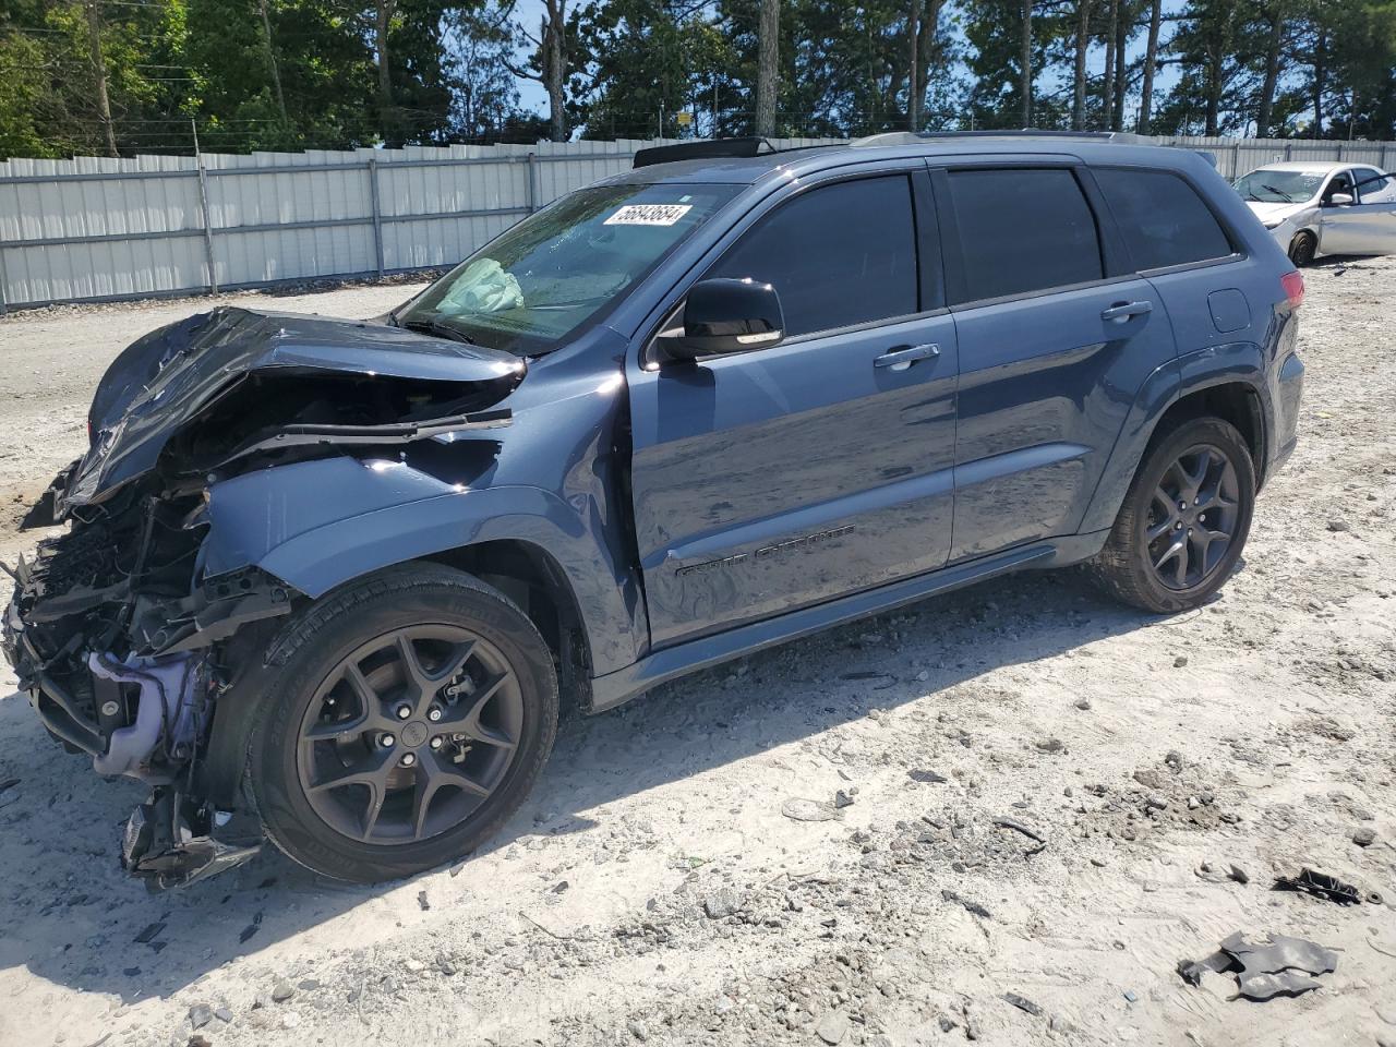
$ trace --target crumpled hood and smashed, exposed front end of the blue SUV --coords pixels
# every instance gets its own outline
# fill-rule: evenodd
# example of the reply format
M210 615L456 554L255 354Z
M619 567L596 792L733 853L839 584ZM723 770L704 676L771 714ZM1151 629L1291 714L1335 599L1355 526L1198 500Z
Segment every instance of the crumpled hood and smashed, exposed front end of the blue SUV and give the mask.
M226 553L209 565L209 491L251 470L508 424L491 408L524 373L507 353L395 327L242 309L155 331L112 364L89 450L21 525L67 532L4 568L15 592L0 639L54 738L98 773L151 786L127 825L127 871L159 889L260 846L215 839L233 815L204 794L201 761L257 651L247 631L306 597Z

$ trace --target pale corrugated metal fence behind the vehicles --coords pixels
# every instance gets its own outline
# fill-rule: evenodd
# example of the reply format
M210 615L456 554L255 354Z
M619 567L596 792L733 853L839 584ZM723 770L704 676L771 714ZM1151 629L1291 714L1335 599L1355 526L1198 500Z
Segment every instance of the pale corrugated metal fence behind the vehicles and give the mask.
M1283 159L1396 163L1396 142L1156 141L1215 152L1227 177ZM0 162L0 311L451 265L670 142Z

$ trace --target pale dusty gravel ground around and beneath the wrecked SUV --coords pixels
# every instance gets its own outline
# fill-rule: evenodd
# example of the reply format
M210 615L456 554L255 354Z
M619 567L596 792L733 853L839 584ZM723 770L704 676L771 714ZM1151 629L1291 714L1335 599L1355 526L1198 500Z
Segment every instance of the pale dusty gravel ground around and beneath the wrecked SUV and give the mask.
M663 687L564 723L450 870L346 888L265 853L147 896L116 867L135 786L0 699L0 1043L1396 1044L1396 258L1308 279L1300 450L1215 603L1029 574ZM110 357L204 306L0 320L0 556ZM1392 900L1270 889L1304 866ZM1234 931L1337 970L1184 984Z

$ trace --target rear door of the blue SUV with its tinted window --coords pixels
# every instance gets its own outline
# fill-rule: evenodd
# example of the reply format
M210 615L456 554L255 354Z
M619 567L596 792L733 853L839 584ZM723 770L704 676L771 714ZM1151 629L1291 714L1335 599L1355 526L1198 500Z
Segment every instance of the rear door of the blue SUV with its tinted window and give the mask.
M951 560L1075 533L1168 317L1071 159L933 170L959 338Z

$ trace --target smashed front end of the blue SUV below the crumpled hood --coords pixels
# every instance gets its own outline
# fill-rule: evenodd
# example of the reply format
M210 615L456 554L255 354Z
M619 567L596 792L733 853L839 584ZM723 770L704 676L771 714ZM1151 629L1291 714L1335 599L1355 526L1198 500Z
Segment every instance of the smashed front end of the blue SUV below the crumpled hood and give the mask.
M228 685L218 642L292 606L292 592L255 568L200 577L201 508L198 494L162 500L133 489L74 510L67 533L20 560L3 625L6 658L49 733L88 754L98 773L152 787L121 852L127 871L152 886L257 850L255 839L214 839L225 815L193 785Z

